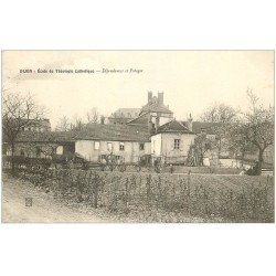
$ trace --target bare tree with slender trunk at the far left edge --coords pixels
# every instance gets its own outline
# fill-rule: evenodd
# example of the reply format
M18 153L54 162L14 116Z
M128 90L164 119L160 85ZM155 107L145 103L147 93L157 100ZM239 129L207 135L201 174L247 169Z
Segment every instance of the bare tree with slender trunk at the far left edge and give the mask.
M40 107L34 98L20 93L9 93L3 96L2 127L3 132L11 145L11 168L12 176L15 173L14 150L15 140L23 128L32 120L38 120L43 116L43 108Z

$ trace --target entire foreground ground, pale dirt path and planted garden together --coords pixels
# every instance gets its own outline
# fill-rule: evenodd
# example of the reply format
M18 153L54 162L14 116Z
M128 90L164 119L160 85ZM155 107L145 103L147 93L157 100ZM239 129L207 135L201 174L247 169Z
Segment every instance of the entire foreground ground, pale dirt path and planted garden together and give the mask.
M21 173L21 180L4 177L2 220L166 223L274 221L274 181L270 177L79 170L54 173ZM33 208L24 206L24 198L29 193L34 198Z

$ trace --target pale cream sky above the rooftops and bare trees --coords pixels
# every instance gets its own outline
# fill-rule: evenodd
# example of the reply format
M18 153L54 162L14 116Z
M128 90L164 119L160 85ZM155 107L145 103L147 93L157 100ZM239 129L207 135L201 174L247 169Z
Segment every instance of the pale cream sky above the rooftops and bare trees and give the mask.
M34 95L46 107L52 127L62 116L85 118L93 107L105 116L118 108L139 108L149 91L164 93L164 104L177 119L190 113L199 119L214 103L247 109L248 87L259 104L274 106L274 52L3 51L2 86L3 93Z

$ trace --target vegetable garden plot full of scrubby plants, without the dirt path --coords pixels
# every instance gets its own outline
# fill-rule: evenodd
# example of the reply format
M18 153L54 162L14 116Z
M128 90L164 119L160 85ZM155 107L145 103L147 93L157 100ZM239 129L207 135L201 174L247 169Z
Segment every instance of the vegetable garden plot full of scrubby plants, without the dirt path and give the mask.
M126 174L73 169L23 171L20 177L57 198L103 208L119 219L181 222L192 216L233 222L274 221L270 177Z

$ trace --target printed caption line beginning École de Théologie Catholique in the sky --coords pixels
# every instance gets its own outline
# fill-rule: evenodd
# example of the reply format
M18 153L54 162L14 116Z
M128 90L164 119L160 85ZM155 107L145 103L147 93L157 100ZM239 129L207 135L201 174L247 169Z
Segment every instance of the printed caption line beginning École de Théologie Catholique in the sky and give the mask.
M20 70L20 73L39 73L39 74L94 74L94 73L102 73L102 74L109 74L109 73L125 73L125 74L140 74L144 70L136 70L136 68L123 68L123 70L116 70L116 68L102 68L102 70L45 70L45 68L39 68L39 70Z

